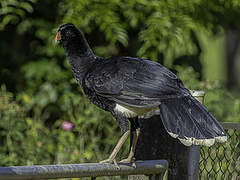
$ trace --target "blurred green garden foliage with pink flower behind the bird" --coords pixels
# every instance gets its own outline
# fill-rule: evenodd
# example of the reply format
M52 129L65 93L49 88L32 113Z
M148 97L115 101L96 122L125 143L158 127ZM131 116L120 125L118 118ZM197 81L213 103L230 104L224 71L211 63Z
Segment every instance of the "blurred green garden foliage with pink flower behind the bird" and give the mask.
M0 165L96 162L120 136L54 43L66 22L98 56L158 61L204 90L219 121L239 122L239 17L239 0L1 0Z

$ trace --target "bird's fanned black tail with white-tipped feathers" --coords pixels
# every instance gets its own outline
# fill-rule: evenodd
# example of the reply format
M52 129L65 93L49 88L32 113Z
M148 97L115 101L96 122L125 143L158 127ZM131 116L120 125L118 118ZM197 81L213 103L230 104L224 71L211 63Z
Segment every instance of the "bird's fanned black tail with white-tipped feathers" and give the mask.
M219 122L191 95L164 101L159 109L167 132L186 146L227 141Z

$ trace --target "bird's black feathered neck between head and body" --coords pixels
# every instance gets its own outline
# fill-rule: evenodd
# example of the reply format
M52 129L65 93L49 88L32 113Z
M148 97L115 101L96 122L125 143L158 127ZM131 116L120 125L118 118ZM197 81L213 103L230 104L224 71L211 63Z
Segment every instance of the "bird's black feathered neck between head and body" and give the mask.
M96 56L81 35L63 43L69 64L78 83L82 85L83 78L96 60Z

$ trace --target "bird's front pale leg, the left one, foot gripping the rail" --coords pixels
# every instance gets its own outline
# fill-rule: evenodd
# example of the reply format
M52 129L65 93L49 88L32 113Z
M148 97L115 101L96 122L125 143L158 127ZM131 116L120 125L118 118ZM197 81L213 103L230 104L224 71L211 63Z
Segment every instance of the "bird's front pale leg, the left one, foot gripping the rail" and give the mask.
M117 162L115 160L115 157L116 157L117 153L119 152L119 150L121 149L121 147L124 144L124 142L127 140L128 134L129 134L129 130L126 131L122 135L122 137L119 139L117 145L113 149L113 151L112 151L111 155L108 157L108 159L100 161L100 163L114 163L118 167Z

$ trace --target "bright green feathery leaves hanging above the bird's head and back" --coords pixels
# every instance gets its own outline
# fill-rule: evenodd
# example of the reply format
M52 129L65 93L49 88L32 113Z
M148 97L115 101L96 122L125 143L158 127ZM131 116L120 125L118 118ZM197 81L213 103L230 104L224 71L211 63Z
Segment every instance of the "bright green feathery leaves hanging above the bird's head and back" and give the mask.
M136 29L142 43L138 50L141 57L156 60L162 53L166 60L172 60L195 50L191 31L198 26L173 1L66 1L64 5L64 22L72 21L87 33L98 28L113 45L118 41L126 46L127 32Z

